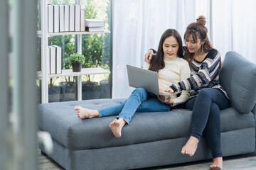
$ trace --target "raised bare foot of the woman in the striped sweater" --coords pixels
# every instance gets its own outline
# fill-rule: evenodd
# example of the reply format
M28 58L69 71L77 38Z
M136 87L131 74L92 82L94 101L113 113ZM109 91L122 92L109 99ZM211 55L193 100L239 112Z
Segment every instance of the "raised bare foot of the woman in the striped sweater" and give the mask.
M186 142L186 145L182 147L181 154L187 154L192 157L195 154L199 140L196 137L191 136Z

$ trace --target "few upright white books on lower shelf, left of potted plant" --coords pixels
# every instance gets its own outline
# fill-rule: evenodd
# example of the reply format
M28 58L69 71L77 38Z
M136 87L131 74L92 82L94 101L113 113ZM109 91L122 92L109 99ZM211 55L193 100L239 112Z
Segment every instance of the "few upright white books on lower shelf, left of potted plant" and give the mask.
M61 47L48 46L48 74L61 74Z

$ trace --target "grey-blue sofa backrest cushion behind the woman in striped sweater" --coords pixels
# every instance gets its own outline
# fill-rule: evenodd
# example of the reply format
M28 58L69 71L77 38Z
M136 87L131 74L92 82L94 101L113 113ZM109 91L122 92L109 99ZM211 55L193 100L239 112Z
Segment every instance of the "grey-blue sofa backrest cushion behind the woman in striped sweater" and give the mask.
M231 107L250 113L256 103L256 64L238 52L227 52L220 71L220 84L228 92Z

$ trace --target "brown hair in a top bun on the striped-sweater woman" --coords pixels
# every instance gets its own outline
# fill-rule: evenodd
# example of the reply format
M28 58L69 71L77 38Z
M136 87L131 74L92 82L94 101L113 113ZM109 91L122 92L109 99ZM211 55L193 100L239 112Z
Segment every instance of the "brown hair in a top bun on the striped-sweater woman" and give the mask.
M196 19L196 23L191 23L186 28L186 32L184 34L184 40L188 39L188 36L192 35L193 41L197 42L198 38L203 42L201 45L202 51L209 52L213 49L213 45L210 43L210 40L207 36L207 28L206 28L206 17L205 16L199 16L198 19ZM191 63L193 61L194 53L190 53L188 50L184 53L184 59L188 61L189 66L191 67ZM221 61L220 61L220 67L221 67Z

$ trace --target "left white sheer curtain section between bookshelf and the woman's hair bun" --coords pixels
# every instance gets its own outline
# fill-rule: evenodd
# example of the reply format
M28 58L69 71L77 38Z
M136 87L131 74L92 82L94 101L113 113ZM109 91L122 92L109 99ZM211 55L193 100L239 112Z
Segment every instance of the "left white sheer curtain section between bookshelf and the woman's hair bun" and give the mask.
M112 4L112 98L127 98L134 88L129 87L126 65L142 67L145 52L157 49L166 29L175 28L183 36L188 23L195 21L195 4L193 0L114 0Z

